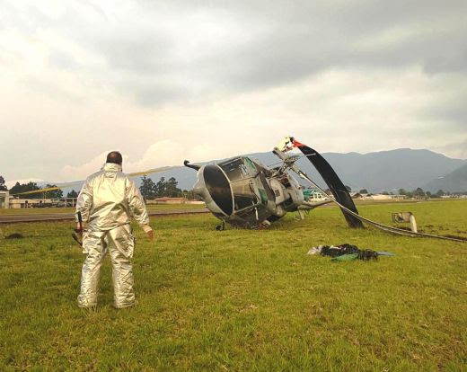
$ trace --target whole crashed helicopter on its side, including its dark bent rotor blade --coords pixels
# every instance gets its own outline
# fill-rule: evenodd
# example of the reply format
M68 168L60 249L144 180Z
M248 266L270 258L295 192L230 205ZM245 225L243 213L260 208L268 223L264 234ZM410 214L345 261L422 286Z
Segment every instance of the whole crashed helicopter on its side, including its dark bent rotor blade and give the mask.
M292 175L294 172L302 178L308 178L295 164L300 156L287 154L295 147L310 159L322 175L332 192L332 199L327 196L309 198L304 193L304 187ZM304 218L304 211L330 203L333 199L358 213L347 188L330 164L315 150L299 143L294 137L286 137L274 148L273 153L282 163L274 168L266 167L248 156L236 156L216 164L190 164L187 160L184 162L185 166L198 172L193 191L205 201L214 216L222 221L217 229L224 229L225 223L245 228L262 228L284 217L287 212L294 211ZM342 211L349 226L362 227L360 220L348 214L345 209Z

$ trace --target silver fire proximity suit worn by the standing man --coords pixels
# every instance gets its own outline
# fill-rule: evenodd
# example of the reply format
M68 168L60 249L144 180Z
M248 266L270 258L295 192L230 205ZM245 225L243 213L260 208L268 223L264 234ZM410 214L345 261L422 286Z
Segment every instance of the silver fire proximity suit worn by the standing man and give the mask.
M114 306L123 308L135 303L131 259L135 247L130 217L145 233L151 231L145 202L134 182L121 172L121 165L107 163L100 172L84 182L76 201L76 218L81 212L87 223L83 234L86 258L81 274L78 306L97 305L99 272L106 252L110 252Z

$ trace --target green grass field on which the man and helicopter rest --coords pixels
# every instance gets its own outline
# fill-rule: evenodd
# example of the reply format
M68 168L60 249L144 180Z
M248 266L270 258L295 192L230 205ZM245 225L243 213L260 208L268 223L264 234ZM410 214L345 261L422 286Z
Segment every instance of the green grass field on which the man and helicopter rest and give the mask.
M410 210L426 232L467 236L467 200L359 210L383 223ZM73 224L0 225L0 370L467 370L466 243L350 230L338 208L261 231L216 222L154 218L154 244L137 230L137 306L111 306L107 259L95 312L75 306ZM396 255L306 254L342 243Z

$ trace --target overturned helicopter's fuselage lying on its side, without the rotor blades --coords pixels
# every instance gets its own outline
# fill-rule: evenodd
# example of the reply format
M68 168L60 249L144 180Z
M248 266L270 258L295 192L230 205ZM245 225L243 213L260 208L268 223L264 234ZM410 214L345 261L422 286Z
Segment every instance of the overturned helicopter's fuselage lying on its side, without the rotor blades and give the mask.
M233 226L267 226L287 212L313 208L290 173L269 169L251 157L236 156L217 164L191 167L198 171L193 191L216 217Z

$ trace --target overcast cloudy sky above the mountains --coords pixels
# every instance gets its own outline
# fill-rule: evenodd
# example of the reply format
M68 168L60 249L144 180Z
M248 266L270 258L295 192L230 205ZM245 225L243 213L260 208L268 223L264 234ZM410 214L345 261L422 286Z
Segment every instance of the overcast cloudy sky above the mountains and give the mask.
M0 175L269 151L467 158L467 2L0 1Z

